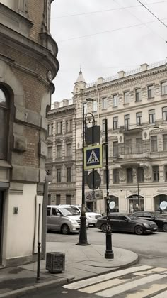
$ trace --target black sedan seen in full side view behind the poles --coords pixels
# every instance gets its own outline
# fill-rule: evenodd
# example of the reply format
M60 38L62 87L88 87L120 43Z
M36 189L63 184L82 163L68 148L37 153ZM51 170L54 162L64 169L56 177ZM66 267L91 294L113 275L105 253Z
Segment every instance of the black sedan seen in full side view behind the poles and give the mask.
M96 228L105 232L106 223L106 216L100 217L97 219ZM129 216L121 213L110 213L110 224L112 231L131 232L137 235L157 231L156 223L145 221L144 219L131 219Z

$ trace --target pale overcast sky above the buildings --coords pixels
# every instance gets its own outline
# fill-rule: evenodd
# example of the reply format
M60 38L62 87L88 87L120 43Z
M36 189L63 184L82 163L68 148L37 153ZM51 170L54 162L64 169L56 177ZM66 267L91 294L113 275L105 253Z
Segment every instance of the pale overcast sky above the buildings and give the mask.
M60 65L53 80L54 102L72 98L80 67L89 84L166 60L167 1L54 0L51 34Z

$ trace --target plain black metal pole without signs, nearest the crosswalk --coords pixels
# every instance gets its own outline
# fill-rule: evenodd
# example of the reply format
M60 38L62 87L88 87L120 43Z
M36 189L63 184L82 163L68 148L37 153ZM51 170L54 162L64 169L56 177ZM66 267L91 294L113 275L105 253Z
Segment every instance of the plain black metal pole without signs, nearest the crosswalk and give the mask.
M105 172L106 172L106 189L107 189L107 226L106 226L106 250L105 259L113 259L112 250L112 232L110 225L110 197L109 197L109 172L108 172L108 120L105 119Z

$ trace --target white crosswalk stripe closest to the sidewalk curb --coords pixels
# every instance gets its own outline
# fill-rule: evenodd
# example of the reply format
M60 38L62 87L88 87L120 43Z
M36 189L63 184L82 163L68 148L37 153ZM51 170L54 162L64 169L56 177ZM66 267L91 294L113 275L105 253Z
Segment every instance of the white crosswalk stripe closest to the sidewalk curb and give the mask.
M119 271L115 271L115 272L111 272L105 275L99 275L96 277L91 277L88 278L87 280L81 280L79 282L73 282L69 285L64 285L64 288L67 289L81 289L83 287L87 287L88 285L94 285L98 282L102 282L105 280L110 280L112 278L115 277L120 277L122 275L127 275L133 272L137 272L137 271L143 271L143 270L147 270L147 269L151 269L154 268L153 266L147 266L147 265L143 265L143 266L138 266L138 267L131 267L131 268L127 268L124 270L119 270Z

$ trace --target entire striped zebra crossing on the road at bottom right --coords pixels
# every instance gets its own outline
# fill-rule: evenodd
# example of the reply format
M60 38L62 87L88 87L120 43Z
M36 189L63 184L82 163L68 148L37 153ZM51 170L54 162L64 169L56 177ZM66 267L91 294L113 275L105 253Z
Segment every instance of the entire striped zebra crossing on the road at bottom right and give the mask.
M63 286L65 289L113 298L167 298L167 269L140 265Z

